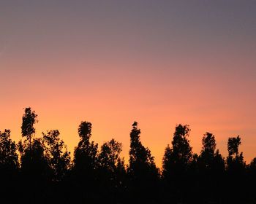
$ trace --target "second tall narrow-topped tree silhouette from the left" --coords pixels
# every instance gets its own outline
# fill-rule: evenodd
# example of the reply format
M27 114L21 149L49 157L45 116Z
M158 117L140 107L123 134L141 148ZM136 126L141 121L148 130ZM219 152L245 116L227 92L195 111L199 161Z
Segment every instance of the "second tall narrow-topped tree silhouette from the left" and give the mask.
M99 199L97 192L97 157L98 144L90 141L91 122L82 121L78 127L80 141L74 151L73 177L75 179L76 192L75 197L78 199L88 200L91 203Z

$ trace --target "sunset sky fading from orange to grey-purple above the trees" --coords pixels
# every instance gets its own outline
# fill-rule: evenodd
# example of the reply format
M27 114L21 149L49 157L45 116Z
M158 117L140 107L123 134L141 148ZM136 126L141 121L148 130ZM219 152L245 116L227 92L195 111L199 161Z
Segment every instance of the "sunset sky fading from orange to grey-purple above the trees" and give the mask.
M193 152L206 132L227 156L241 136L256 157L256 1L0 1L0 130L21 138L24 108L36 136L58 129L69 151L78 125L123 144L138 122L161 167L176 125Z

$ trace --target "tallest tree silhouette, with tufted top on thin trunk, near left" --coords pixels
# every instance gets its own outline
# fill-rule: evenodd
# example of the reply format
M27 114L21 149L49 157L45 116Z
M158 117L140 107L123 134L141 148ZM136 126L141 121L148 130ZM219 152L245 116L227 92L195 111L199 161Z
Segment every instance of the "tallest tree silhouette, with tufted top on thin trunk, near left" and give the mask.
M42 138L33 137L36 122L37 114L30 107L26 108L21 125L21 133L25 141L18 142L18 150L20 152L20 182L23 184L21 195L28 203L39 203L39 195L41 195L41 200L45 199L50 174ZM29 196L26 196L26 192L29 192Z

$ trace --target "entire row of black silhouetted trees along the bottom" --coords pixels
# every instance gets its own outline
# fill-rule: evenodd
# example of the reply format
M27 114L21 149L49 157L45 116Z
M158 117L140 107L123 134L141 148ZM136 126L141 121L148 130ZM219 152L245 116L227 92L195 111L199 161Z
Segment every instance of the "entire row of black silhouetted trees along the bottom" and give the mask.
M194 154L189 126L177 125L159 170L137 122L125 165L121 143L91 141L90 122L78 127L72 160L59 130L35 138L35 111L26 108L22 119L18 144L0 132L1 203L256 203L256 158L246 165L239 136L228 138L226 158L211 133Z

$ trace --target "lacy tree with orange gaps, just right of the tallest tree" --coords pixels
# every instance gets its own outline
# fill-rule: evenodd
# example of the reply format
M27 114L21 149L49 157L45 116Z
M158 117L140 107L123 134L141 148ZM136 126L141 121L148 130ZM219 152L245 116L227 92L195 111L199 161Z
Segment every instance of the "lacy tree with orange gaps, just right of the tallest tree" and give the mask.
M70 165L70 152L67 151L67 146L59 138L59 135L59 130L49 130L46 134L42 133L45 157L53 171L54 181L61 181L66 176Z

